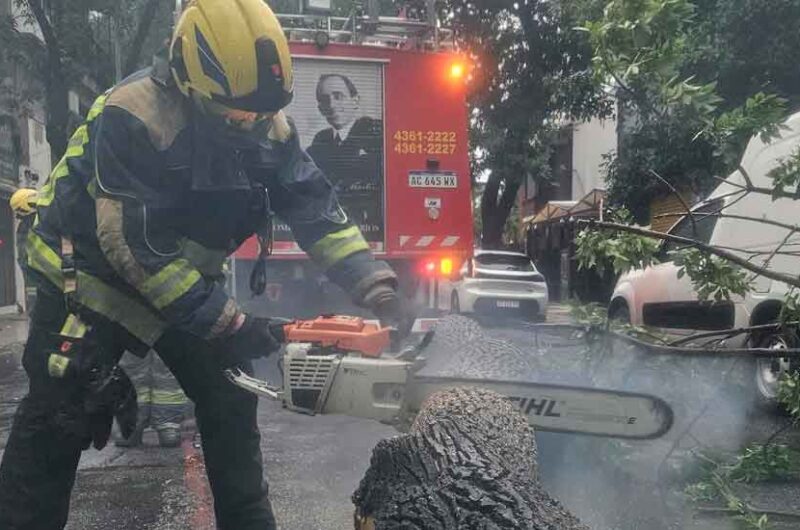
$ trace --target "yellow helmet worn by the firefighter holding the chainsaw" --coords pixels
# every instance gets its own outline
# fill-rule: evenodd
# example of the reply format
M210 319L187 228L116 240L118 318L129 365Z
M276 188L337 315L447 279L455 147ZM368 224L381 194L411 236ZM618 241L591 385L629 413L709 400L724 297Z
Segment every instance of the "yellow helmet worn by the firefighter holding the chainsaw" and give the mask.
M292 59L264 0L192 0L175 25L170 67L184 95L256 113L292 100Z

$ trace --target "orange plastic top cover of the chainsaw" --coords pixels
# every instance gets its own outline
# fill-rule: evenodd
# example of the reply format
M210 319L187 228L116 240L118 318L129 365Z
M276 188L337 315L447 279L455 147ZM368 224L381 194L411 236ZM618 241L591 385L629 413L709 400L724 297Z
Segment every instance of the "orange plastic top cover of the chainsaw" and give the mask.
M314 320L298 320L283 329L289 342L335 346L367 357L379 357L391 344L389 328L369 324L360 317L322 316Z

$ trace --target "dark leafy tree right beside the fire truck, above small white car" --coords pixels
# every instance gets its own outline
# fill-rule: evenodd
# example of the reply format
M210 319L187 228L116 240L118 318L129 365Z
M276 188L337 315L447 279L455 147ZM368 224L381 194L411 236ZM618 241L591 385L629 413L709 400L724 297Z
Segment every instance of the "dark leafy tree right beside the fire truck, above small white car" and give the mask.
M488 174L481 201L482 244L501 244L527 176L550 177L562 120L608 111L590 69L579 11L540 0L450 1L445 16L473 61L469 98L472 172Z

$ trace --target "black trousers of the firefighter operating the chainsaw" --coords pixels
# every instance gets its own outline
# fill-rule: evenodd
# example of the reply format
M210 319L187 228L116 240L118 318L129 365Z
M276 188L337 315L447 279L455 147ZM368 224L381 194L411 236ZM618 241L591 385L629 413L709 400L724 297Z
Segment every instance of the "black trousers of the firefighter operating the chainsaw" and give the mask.
M80 391L48 375L53 334L66 318L63 297L37 293L23 366L28 395L14 416L0 464L0 529L61 530L86 436ZM92 322L116 327L108 321ZM120 336L112 331L107 336ZM112 345L117 347L116 345ZM263 478L257 398L225 379L208 342L168 330L154 349L195 402L206 471L220 530L272 530L275 520ZM119 349L119 356L124 348Z

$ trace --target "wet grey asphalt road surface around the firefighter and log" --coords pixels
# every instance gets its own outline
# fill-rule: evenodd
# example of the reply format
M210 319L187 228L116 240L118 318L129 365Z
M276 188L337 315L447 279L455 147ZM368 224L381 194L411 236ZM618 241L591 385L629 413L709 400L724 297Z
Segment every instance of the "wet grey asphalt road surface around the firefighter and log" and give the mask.
M488 323L484 330L490 337L522 350L532 348L533 333L527 325ZM12 344L0 349L18 354L20 346ZM0 377L0 448L26 386L21 369L13 369L14 361L10 359L14 358L0 355L0 367L6 366ZM258 369L261 376L273 380L277 377L274 359ZM692 436L712 446L726 441L741 443L747 438L757 439L777 421L767 418L763 424L748 423L743 427L733 410L711 411L714 428L700 429ZM368 467L372 448L378 440L395 435L394 429L368 420L298 415L263 400L259 424L270 496L280 528L352 528L350 495ZM656 464L672 449L674 440L625 444L549 433L539 433L537 440L543 482L593 529L734 528L720 519L700 523L686 517L676 519L675 512L681 509L675 504L680 503L662 495L653 477ZM121 450L109 446L101 452L86 452L67 528L212 529L202 457L195 446L192 434L187 432L181 448L160 449L154 434L148 432L144 448ZM682 447L683 442L678 451ZM764 502L794 507L800 488L792 488L782 487L775 493L776 498Z

